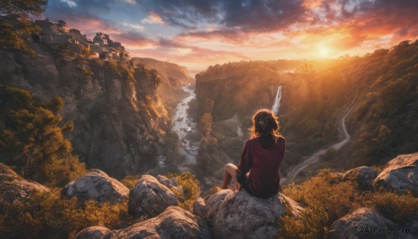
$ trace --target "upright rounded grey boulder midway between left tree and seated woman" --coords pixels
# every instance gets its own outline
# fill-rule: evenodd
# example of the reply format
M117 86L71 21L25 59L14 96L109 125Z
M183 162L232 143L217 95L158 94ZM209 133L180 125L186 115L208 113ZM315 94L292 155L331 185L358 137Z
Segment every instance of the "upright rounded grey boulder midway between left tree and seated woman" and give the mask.
M141 176L130 190L128 210L135 218L155 217L169 206L178 206L177 196L153 176Z

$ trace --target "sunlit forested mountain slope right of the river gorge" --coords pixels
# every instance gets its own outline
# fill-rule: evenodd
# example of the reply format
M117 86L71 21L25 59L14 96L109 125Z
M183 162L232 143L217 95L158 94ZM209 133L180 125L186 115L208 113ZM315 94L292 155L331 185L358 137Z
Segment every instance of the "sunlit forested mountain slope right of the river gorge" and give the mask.
M328 152L321 165L383 164L418 150L417 63L418 41L405 41L362 57L301 61L290 72L287 61L215 65L196 75L199 114L211 116L212 137L236 161L239 154L233 152L240 152L246 137L214 125L237 114L245 131L257 109L271 109L282 86L278 116L287 144L284 171L341 139L341 114L350 109L351 140L339 153Z

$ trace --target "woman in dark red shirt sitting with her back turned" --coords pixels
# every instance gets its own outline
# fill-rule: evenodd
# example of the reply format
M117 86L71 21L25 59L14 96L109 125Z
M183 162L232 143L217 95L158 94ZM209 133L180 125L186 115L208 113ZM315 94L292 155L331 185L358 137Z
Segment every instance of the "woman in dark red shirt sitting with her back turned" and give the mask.
M279 169L284 158L284 138L279 134L277 116L268 109L254 114L251 137L245 143L238 167L226 164L222 189L232 178L237 190L244 188L253 196L268 199L280 188Z

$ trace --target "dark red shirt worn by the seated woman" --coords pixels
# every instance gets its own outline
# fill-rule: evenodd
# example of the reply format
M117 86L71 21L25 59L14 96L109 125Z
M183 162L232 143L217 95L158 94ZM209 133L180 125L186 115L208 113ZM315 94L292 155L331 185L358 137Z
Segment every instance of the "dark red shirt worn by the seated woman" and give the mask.
M249 139L245 143L236 171L237 176L249 171L247 186L251 194L267 199L279 191L279 169L284 158L284 148L284 139L281 137L272 148L263 148L259 138Z

